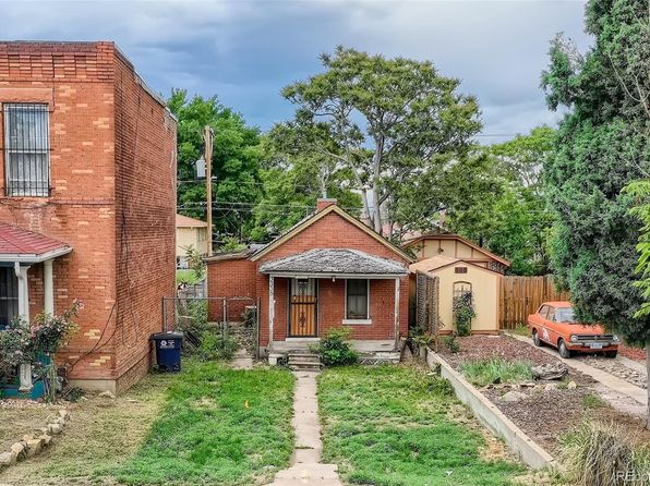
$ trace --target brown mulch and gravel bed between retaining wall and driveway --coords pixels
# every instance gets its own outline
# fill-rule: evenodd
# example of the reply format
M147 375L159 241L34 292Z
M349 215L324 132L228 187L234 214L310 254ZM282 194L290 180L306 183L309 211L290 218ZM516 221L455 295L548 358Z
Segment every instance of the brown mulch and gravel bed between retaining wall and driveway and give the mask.
M559 359L507 336L471 336L457 338L457 341L460 352L450 353L444 345L440 350L445 361L457 370L464 361L491 356L529 361L534 365L561 362ZM603 359L599 363L605 361L615 362ZM628 427L638 440L650 441L650 432L643 430L642 418L612 408L604 400L607 390L603 388L592 378L568 368L568 375L562 381L489 385L481 392L551 454L557 453L559 437L585 418L615 421ZM517 394L518 398L507 401L506 393Z

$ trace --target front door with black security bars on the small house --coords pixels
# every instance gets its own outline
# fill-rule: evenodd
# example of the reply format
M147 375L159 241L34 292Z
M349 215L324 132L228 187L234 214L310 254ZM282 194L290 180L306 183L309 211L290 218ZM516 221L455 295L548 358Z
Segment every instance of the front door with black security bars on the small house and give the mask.
M316 279L291 279L289 292L289 337L315 338L317 281Z

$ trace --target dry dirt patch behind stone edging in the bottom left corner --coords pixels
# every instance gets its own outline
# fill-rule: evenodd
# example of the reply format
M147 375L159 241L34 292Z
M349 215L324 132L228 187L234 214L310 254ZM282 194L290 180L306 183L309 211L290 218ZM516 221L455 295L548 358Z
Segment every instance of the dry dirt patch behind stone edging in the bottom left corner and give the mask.
M59 416L61 405L48 405L31 400L0 400L0 452L23 436L38 433Z

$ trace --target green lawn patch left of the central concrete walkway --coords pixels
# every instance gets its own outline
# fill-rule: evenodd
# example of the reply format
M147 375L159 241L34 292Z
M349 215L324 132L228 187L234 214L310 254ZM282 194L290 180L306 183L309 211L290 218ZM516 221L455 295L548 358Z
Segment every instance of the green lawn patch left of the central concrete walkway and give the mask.
M139 452L116 471L129 485L241 485L270 478L293 448L293 377L190 363Z

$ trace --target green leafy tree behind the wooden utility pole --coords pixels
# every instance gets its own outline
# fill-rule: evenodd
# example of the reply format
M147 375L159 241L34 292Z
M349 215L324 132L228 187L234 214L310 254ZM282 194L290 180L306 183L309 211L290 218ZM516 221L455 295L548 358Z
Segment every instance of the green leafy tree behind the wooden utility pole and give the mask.
M204 126L215 132L213 146L213 228L217 243L244 240L253 224L252 208L262 197L260 131L219 104L216 96L188 97L172 89L168 100L178 118L178 205L180 212L205 220L205 181L196 180Z

